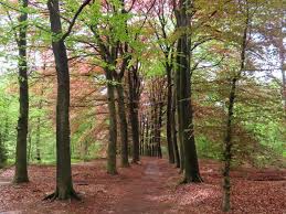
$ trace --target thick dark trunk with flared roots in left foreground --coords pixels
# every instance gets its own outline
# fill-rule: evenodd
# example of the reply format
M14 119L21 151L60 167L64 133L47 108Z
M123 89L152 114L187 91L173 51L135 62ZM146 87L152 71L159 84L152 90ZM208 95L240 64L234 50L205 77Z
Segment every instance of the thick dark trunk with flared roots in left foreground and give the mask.
M49 0L53 54L57 77L56 97L56 190L47 199L66 200L76 197L73 189L71 168L71 130L70 130L70 71L67 53L62 34L59 0Z

